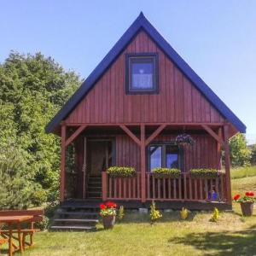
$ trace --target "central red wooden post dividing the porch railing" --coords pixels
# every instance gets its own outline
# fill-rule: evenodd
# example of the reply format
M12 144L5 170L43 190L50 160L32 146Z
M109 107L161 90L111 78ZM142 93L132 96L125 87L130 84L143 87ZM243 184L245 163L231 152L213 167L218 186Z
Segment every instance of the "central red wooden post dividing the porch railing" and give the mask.
M141 125L141 196L142 202L146 201L146 143L145 125Z

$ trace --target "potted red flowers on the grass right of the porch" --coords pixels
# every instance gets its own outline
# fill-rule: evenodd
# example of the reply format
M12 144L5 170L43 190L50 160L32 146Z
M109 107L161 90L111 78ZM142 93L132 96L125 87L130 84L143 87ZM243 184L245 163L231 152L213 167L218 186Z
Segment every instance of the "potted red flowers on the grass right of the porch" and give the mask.
M253 192L246 192L243 196L237 194L234 196L233 199L234 201L240 202L241 212L243 216L253 215L253 203L256 201Z

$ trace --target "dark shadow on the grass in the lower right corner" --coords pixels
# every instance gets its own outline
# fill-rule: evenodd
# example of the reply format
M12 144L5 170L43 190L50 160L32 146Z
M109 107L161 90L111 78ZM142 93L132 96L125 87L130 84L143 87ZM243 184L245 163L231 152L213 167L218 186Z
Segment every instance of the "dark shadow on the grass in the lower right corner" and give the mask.
M204 255L256 255L256 224L235 232L190 233L169 239L170 243L188 245L208 251ZM209 252L211 251L212 252Z

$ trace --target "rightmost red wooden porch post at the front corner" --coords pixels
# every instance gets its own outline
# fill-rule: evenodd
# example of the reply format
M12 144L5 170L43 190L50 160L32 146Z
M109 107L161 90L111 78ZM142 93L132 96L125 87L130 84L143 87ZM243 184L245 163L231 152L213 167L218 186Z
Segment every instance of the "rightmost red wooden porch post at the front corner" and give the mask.
M229 129L230 125L224 125L224 152L225 152L225 177L226 177L226 191L227 203L232 205L231 197L231 180L230 180L230 144L229 144Z

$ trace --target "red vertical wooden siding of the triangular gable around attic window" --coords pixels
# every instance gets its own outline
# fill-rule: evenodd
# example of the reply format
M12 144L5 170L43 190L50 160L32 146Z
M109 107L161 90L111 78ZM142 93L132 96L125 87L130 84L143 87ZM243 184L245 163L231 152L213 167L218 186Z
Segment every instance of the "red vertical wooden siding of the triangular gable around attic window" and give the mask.
M125 54L159 54L160 94L125 95ZM66 119L67 123L223 122L223 117L145 32L119 58Z

